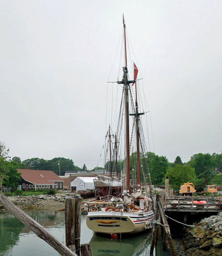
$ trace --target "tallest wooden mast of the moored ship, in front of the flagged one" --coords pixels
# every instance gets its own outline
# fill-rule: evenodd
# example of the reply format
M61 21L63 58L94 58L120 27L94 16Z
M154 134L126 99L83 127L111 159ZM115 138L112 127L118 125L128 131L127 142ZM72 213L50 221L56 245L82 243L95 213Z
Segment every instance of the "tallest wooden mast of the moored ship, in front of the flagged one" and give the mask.
M131 190L130 186L130 154L129 154L129 83L127 70L127 42L125 37L125 20L123 16L124 29L124 45L125 45L125 67L123 68L123 82L125 90L125 146L126 146L126 161L127 161L127 190Z

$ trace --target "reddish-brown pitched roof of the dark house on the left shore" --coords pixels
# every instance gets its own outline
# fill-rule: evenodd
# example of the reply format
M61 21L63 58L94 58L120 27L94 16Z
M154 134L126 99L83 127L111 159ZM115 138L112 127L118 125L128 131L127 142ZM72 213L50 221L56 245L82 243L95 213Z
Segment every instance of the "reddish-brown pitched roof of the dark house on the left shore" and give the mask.
M54 184L52 181L63 181L52 171L18 169L22 179L33 184Z

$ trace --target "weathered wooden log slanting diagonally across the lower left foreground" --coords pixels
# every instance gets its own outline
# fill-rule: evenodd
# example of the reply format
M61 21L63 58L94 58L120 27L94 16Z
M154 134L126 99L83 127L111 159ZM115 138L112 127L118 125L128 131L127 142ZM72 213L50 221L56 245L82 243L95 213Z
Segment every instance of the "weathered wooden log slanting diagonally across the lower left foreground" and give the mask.
M47 232L44 227L42 227L37 221L33 220L28 214L19 209L10 200L0 192L0 204L11 212L18 220L22 221L24 225L30 228L36 236L43 239L46 243L52 246L58 253L64 256L77 256L72 252L65 244L59 242L55 237L53 237L49 232Z

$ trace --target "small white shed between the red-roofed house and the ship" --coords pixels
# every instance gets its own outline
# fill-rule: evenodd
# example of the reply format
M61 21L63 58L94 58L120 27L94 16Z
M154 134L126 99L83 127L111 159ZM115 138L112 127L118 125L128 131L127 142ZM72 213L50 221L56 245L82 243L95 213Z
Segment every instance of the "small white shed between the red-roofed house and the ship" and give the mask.
M72 180L70 187L72 191L83 191L83 190L93 190L95 189L94 180L96 177L77 177Z

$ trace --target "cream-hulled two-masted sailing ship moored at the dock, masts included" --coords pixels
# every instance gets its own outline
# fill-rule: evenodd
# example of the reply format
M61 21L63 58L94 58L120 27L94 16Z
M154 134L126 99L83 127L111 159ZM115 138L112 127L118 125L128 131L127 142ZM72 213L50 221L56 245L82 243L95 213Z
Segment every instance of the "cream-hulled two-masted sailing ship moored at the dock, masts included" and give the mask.
M140 149L143 146L141 140L143 138L141 131L140 116L145 113L139 113L138 108L138 92L137 92L137 75L138 68L134 64L134 79L129 79L127 67L127 42L126 42L126 27L123 17L123 38L124 38L124 67L122 81L117 81L123 86L123 106L122 116L125 116L125 176L123 180L122 195L112 196L107 202L100 202L100 207L88 211L86 218L86 225L94 232L104 234L131 234L138 233L152 228L152 220L154 219L154 212L152 211L152 199L148 197L150 193L149 186L141 186L141 163L140 163ZM136 91L135 102L132 104L131 88L135 84ZM133 113L129 113L129 102L133 105ZM123 113L124 112L124 113ZM130 159L130 131L129 131L129 116L134 119L134 130L136 133L136 160L137 160L137 179L136 189L132 189L131 183L131 159ZM110 130L109 130L110 131ZM110 132L109 132L110 136ZM118 154L118 147L115 147L115 156ZM111 165L111 161L110 161ZM118 170L116 164L116 176L118 177ZM105 180L104 180L105 181ZM106 184L106 182L101 184ZM99 180L97 180L99 182ZM117 182L117 181L116 181ZM86 209L88 205L85 205ZM96 210L95 210L96 209Z

